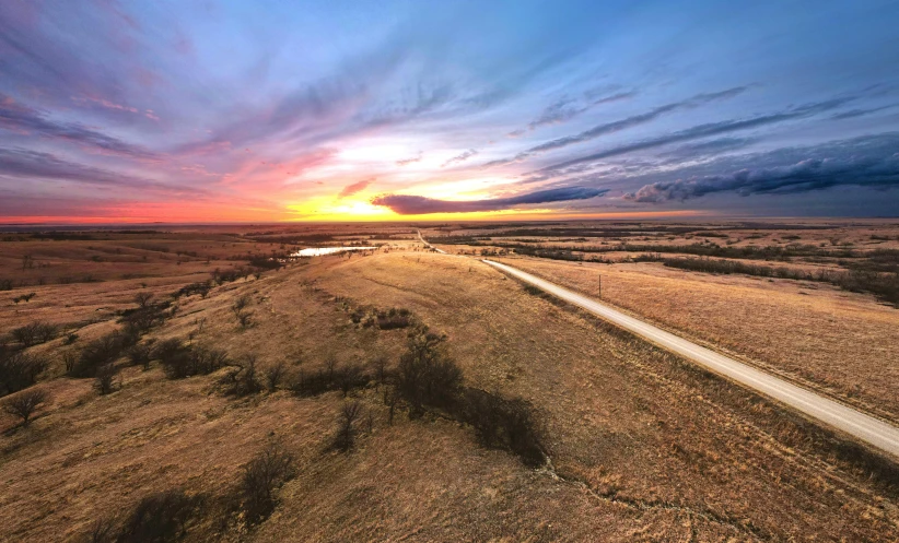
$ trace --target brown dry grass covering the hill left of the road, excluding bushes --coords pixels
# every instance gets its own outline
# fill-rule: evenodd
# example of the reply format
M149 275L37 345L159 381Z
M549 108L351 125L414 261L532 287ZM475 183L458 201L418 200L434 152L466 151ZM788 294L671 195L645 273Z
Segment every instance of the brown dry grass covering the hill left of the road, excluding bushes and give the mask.
M105 284L55 287L73 297ZM244 295L254 312L246 329L231 311ZM470 428L440 417L399 413L388 425L374 386L357 396L373 432L339 453L328 444L340 392L234 399L218 390L217 374L166 380L153 363L124 369L120 390L100 397L90 380L51 379L57 357L40 385L52 403L27 429L0 420L0 539L74 540L153 492L226 494L271 441L296 459L272 516L227 533L203 518L188 541L899 538L896 494L801 420L468 259L317 258L182 298L151 335L255 354L260 367L284 363L289 376L329 358L395 364L406 331L354 323L346 298L412 310L448 334L468 385L532 401L554 470L481 449ZM107 319L79 333L114 327Z

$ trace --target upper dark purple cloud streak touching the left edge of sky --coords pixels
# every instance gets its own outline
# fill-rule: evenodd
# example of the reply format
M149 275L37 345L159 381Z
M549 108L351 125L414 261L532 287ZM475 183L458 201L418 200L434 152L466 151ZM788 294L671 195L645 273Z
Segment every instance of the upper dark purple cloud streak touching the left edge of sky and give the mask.
M0 94L0 128L20 134L70 141L104 153L157 160L157 156L150 151L91 130L80 123L52 121L37 109L21 104L4 94Z

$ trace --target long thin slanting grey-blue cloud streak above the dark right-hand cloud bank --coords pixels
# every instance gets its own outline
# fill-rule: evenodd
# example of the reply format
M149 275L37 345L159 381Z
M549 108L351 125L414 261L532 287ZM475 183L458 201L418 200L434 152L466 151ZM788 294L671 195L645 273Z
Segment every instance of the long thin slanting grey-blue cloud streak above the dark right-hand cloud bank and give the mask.
M688 128L686 130L681 130L679 132L673 132L669 134L661 135L658 138L651 138L649 140L639 141L635 143L629 143L627 145L620 145L617 147L612 147L606 151L600 151L598 153L593 153L586 156L581 156L577 158L573 158L570 161L561 162L558 164L553 164L551 166L547 166L545 168L540 168L537 170L538 173L551 173L551 172L559 172L571 166L581 165L588 162L595 162L603 158L609 158L612 156L619 156L628 153L632 153L634 151L644 151L649 149L661 147L664 145L668 145L672 143L679 143L682 141L690 141L690 140L699 140L701 138L709 138L713 135L725 134L728 132L736 132L739 130L748 130L751 128L760 128L768 125L774 125L778 122L784 122L787 120L795 120L802 119L805 117L812 117L813 115L817 115L824 111L829 111L836 109L849 102L853 98L833 98L827 102L818 102L815 104L806 104L804 106L794 107L792 109L787 109L785 111L777 113L777 114L769 114L769 115L761 115L757 117L750 117L748 119L736 119L736 120L725 120L720 122L710 122L707 125L699 125L692 128Z

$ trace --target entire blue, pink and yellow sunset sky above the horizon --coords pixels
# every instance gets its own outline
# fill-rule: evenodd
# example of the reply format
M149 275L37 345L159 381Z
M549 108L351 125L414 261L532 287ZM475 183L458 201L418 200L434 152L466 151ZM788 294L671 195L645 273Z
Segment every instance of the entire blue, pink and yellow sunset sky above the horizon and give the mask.
M0 2L0 223L899 215L899 1Z

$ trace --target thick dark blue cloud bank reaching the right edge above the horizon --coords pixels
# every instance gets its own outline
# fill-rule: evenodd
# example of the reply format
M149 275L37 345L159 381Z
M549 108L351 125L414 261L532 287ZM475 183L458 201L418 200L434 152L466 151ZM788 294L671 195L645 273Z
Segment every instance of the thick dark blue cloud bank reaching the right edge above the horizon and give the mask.
M754 156L766 164L796 155L806 157L780 165L746 167L722 175L692 176L644 185L624 194L626 200L659 203L688 200L716 192L742 196L796 193L837 186L899 187L899 133L864 137L820 147L782 150ZM786 155L786 156L784 156Z

